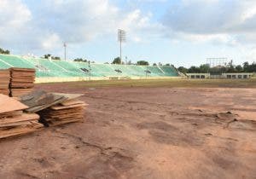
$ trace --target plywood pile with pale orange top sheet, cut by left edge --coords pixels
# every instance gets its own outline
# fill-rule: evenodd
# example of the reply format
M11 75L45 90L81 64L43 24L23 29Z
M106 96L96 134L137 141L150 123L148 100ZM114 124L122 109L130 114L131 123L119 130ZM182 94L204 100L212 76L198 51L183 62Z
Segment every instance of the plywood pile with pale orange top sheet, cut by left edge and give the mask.
M36 113L23 113L26 105L0 94L0 138L20 136L43 127Z

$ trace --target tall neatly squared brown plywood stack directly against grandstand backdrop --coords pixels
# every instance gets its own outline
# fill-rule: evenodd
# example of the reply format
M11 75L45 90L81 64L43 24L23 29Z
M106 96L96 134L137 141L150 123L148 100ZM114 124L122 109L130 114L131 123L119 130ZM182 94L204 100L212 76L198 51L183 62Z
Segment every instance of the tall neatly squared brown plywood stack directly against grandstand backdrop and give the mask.
M26 95L33 90L35 81L35 69L10 68L10 96L18 97Z

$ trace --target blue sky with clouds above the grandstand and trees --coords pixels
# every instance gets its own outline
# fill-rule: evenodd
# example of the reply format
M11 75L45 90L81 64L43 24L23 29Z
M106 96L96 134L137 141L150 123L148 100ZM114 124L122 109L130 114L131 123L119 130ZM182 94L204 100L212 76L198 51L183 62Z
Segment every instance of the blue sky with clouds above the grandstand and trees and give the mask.
M119 55L191 66L210 57L256 61L254 0L1 0L0 47L15 55L52 54L110 62Z

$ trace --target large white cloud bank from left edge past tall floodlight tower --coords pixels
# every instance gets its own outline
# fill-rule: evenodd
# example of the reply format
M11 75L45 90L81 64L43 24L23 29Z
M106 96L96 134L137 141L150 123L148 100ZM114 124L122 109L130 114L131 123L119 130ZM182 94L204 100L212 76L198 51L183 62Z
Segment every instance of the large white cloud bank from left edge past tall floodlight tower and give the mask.
M20 0L1 1L0 42L24 50L57 49L61 48L57 43L64 41L79 44L104 35L115 38L118 28L127 31L129 40L141 42L143 30L152 30L152 14L139 9L124 12L108 0L44 0L30 8Z

